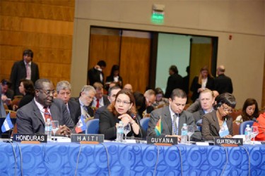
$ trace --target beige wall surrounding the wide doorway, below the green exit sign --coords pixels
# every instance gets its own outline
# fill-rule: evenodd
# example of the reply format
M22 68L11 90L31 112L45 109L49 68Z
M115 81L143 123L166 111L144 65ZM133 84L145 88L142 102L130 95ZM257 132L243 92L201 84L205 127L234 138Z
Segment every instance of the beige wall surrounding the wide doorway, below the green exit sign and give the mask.
M232 78L237 108L253 97L261 106L264 77L264 1L155 1L165 23L151 23L152 1L76 1L71 84L86 84L90 26L218 37L218 65ZM232 39L229 39L232 35ZM167 73L165 73L167 74Z

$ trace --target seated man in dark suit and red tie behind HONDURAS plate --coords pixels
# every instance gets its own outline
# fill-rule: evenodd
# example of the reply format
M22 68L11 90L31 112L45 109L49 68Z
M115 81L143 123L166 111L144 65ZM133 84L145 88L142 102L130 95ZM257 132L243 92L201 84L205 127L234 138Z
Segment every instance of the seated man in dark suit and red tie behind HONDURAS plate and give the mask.
M71 134L73 121L61 99L54 99L53 83L47 79L35 82L35 97L33 101L19 108L16 113L18 133L36 134L45 133L47 118L59 121L59 130L56 134ZM48 117L47 117L48 116Z

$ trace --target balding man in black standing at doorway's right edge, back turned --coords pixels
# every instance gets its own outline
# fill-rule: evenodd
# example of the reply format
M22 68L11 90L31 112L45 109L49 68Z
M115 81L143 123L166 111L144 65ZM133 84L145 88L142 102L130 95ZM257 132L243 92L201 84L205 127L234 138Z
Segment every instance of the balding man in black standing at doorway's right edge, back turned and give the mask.
M218 66L216 72L218 77L214 79L215 90L217 90L219 94L223 94L225 92L232 94L232 80L230 77L225 76L225 66Z

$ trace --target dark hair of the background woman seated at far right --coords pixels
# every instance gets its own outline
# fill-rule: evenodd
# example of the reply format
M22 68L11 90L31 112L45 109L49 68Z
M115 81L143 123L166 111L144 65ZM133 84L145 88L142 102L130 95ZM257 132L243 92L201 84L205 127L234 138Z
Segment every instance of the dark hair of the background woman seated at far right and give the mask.
M246 112L247 106L252 106L255 105L255 110L254 113L249 116ZM242 108L242 120L243 122L247 121L247 120L252 120L252 118L258 118L259 117L259 107L258 107L258 103L255 99L246 99L243 108Z

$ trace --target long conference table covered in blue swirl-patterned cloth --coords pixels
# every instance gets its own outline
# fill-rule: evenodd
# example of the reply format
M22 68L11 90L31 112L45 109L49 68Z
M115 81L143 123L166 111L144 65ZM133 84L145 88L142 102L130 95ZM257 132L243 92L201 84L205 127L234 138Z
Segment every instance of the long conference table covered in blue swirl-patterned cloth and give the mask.
M0 142L0 175L265 175L265 146Z

